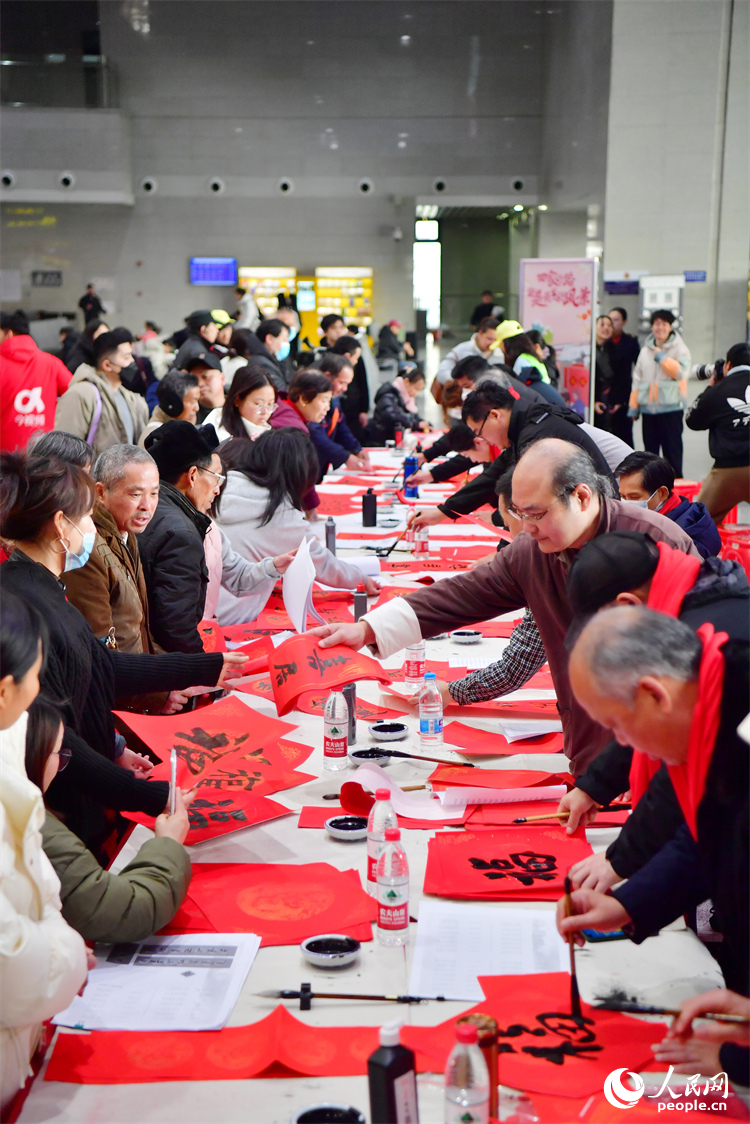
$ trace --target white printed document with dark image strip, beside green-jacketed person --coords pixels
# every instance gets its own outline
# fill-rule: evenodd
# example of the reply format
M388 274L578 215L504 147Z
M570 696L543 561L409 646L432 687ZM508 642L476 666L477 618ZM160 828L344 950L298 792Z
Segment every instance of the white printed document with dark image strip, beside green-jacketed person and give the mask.
M254 933L100 944L83 995L53 1022L87 1031L218 1031L260 946Z

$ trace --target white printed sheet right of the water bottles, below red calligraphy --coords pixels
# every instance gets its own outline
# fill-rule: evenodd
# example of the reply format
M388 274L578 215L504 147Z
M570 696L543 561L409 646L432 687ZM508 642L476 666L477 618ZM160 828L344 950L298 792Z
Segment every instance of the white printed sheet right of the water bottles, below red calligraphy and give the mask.
M479 1003L478 976L561 972L568 962L553 909L423 898L409 994Z

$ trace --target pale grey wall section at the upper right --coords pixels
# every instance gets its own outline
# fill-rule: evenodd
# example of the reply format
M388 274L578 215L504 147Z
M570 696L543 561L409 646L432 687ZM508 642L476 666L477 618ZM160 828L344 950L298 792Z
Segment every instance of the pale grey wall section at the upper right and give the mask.
M604 266L681 273L695 361L747 332L747 0L615 0Z

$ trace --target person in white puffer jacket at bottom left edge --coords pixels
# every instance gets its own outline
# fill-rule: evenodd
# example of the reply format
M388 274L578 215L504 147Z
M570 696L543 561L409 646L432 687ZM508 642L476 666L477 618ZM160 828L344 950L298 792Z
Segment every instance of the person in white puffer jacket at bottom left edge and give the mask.
M3 589L0 601L0 1109L3 1120L31 1071L29 1061L39 1042L42 1023L72 1003L87 977L85 945L80 934L63 921L60 881L42 850L42 794L24 768L26 711L39 690L43 633L36 609Z

